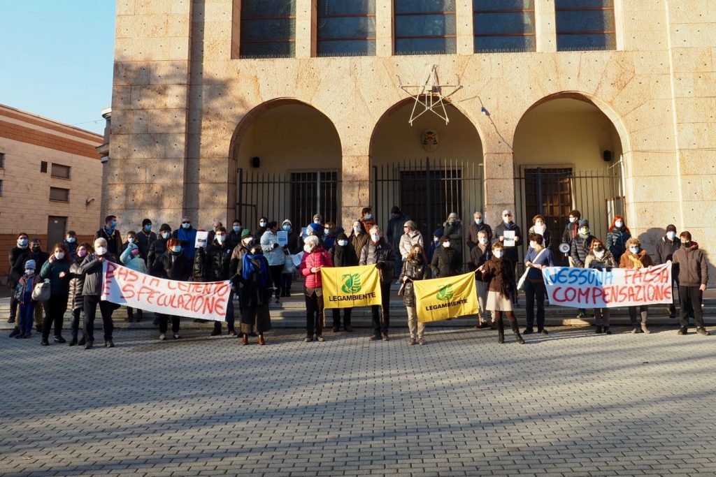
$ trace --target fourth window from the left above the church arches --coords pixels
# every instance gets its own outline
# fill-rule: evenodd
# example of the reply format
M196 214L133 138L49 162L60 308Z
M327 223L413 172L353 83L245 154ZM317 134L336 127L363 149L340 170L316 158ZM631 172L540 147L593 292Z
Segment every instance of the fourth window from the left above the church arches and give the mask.
M534 0L473 0L475 53L536 51Z

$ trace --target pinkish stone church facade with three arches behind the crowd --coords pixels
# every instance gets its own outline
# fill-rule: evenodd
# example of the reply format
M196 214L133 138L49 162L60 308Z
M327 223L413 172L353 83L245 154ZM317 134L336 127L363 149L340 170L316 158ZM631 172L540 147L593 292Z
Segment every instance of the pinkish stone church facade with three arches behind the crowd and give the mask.
M589 207L602 237L623 212L647 249L669 223L716 249L714 2L525 0L490 11L480 0L416 1L424 9L410 17L410 2L367 0L355 2L365 43L343 55L326 46L326 24L340 16L328 1L267 3L286 8L272 18L288 26L267 29L275 39L251 24L263 18L256 1L117 1L106 212L132 224L175 225L183 214L204 226L253 222L266 210L280 221L301 202L301 177L332 172L330 220L345 226L374 205L384 223L392 205L422 214L405 204L426 191L401 185L410 180L402 171L432 159L438 181L463 181L455 197L470 195L465 222L474 209L495 224L508 208L527 227L535 211ZM436 9L444 18L433 24L420 17ZM437 34L412 34L435 24ZM261 50L261 38L283 46ZM461 87L448 100L450 122L428 112L411 126L415 99L399 86L421 84L432 65L437 84ZM427 152L430 130L440 142ZM566 176L531 178L553 169ZM263 185L271 177L275 195ZM309 187L309 201L320 187ZM440 187L434 195L449 195ZM428 229L444 220L440 207ZM551 220L558 230L566 217Z

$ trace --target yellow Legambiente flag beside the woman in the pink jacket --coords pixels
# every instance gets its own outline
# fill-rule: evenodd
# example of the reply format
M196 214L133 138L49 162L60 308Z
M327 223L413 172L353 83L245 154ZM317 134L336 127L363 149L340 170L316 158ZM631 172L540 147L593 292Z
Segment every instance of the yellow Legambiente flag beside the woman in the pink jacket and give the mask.
M380 273L375 265L321 267L323 307L380 305Z

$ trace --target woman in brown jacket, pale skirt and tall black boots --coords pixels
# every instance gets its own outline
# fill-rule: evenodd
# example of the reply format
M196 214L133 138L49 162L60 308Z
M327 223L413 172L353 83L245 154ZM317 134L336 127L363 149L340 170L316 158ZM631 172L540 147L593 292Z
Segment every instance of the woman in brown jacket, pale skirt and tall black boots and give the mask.
M483 280L489 283L488 300L485 305L488 310L495 312L495 322L497 323L498 338L497 342L505 343L505 323L502 319L503 312L507 315L510 322L510 328L515 333L517 343L523 345L520 329L517 325L517 318L513 313L511 297L517 292L517 283L515 280L515 267L513 263L505 258L505 247L502 243L495 242L492 247L493 256L490 260L485 261L478 270L483 274Z

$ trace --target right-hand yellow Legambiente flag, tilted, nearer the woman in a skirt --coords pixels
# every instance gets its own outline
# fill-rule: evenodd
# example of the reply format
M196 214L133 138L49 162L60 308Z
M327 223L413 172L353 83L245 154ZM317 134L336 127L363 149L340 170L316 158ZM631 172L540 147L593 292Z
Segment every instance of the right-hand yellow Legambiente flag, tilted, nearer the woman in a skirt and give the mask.
M455 277L416 280L412 285L420 323L478 314L473 272Z

